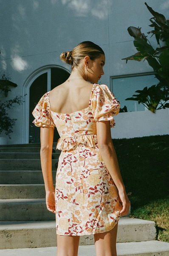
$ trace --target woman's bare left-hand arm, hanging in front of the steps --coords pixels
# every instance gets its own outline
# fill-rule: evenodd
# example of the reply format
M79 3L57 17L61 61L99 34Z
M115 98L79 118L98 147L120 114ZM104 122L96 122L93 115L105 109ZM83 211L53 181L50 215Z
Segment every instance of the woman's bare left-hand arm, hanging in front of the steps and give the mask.
M52 146L54 140L54 128L40 128L40 160L42 174L45 183L46 206L50 212L55 212L55 188L52 178Z

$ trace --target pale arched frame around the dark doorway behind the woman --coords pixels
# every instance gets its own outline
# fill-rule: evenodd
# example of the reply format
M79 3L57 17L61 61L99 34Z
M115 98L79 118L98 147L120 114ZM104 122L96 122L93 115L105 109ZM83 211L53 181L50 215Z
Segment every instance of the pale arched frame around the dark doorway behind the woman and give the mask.
M66 69L65 67L59 65L47 65L40 67L31 73L28 78L25 80L23 85L23 96L25 95L25 102L23 104L23 122L22 122L22 143L29 143L29 89L31 84L44 73L47 73L47 91L51 90L51 68L60 68L62 70L71 73L71 70Z

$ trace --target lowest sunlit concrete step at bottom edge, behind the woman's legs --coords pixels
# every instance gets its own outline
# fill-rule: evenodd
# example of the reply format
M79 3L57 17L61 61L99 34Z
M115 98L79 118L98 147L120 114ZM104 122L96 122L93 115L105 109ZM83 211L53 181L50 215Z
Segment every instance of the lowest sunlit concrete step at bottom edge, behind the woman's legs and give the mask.
M56 256L57 247L1 250L0 256ZM78 256L96 256L94 245L79 246ZM169 256L169 243L145 241L117 243L117 256Z

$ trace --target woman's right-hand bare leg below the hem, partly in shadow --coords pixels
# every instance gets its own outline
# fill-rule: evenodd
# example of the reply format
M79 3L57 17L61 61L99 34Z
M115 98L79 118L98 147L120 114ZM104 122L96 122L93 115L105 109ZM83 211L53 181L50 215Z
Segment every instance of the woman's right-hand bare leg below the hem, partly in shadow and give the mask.
M116 253L116 237L117 227L105 233L98 233L94 235L96 256L117 256Z

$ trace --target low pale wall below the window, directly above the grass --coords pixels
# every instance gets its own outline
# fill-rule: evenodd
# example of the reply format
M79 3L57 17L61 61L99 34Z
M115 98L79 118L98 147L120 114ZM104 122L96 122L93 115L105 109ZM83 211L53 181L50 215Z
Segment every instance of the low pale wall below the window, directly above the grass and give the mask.
M169 134L169 108L151 111L118 113L115 127L111 128L112 138L134 138Z

